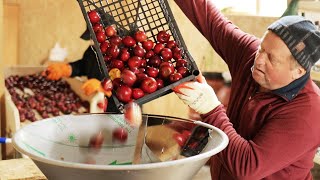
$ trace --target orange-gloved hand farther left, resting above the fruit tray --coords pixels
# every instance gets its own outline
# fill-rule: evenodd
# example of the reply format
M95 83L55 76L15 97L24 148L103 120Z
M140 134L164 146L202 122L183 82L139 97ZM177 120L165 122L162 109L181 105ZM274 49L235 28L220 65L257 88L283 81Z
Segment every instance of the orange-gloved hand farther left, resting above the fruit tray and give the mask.
M72 67L67 63L52 63L42 73L47 79L59 80L62 77L70 77L72 73Z

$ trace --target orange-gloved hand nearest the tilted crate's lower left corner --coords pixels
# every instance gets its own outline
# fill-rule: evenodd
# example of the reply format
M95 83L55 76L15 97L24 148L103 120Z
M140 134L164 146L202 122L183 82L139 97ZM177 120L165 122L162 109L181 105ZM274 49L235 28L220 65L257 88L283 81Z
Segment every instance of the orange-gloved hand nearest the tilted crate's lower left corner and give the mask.
M81 87L84 91L85 95L90 96L96 92L103 92L106 96L110 97L112 95L112 91L106 91L103 89L101 82L98 79L92 78L87 80Z

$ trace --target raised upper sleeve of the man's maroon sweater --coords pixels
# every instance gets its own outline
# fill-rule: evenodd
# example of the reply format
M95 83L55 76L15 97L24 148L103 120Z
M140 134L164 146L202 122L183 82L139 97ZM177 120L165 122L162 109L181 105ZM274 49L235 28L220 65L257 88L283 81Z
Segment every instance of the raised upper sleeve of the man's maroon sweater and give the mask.
M216 8L212 0L175 0L180 9L227 63L233 76L252 59L260 40L244 33Z

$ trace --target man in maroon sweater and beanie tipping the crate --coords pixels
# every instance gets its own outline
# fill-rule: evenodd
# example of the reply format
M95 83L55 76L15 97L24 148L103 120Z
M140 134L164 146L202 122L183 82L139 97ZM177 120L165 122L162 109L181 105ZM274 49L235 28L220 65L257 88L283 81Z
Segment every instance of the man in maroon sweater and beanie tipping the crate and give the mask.
M320 145L320 90L310 69L320 32L300 16L283 17L260 40L228 21L211 0L176 0L227 63L227 111L203 76L174 89L229 145L211 158L212 179L312 179Z

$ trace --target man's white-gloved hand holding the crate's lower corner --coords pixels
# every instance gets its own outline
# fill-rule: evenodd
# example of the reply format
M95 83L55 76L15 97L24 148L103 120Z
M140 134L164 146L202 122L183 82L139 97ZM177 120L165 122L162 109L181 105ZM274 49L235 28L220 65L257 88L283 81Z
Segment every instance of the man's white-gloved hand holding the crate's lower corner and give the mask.
M199 114L206 114L219 106L216 93L200 74L197 81L182 83L172 89L177 96Z

